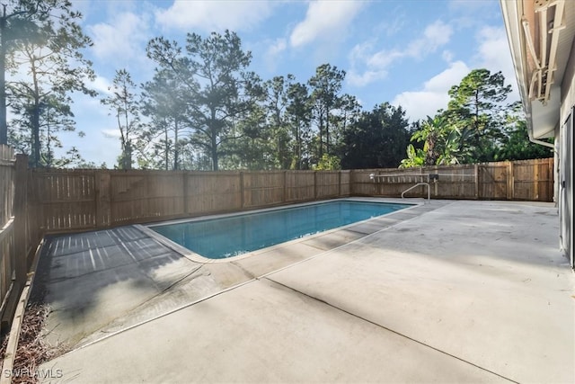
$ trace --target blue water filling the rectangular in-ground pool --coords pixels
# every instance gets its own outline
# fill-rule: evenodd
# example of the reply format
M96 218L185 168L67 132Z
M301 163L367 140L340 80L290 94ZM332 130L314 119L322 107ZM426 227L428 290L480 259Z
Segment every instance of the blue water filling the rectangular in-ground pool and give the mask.
M150 228L196 254L210 259L223 259L410 206L385 202L328 201Z

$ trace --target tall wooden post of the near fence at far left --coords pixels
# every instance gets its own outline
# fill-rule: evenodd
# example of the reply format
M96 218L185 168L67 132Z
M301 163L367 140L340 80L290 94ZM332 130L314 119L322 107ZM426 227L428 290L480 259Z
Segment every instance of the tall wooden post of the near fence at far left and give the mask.
M26 205L28 192L28 156L16 155L16 173L14 177L14 270L15 285L20 288L26 282L28 245L26 244Z

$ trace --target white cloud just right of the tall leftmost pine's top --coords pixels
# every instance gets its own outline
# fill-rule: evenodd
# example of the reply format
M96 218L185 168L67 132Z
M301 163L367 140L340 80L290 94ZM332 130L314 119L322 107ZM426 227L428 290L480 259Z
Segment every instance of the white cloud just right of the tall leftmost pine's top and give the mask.
M119 13L110 23L101 22L87 27L93 39L93 53L102 60L128 62L142 56L148 40L148 20L145 15Z

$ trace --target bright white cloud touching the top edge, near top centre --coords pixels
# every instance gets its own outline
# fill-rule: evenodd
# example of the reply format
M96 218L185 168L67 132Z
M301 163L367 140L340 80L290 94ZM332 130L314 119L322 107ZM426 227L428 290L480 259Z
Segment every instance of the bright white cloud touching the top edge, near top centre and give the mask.
M301 47L314 40L332 40L348 29L349 23L365 5L358 1L310 2L305 20L299 22L289 37L292 47Z

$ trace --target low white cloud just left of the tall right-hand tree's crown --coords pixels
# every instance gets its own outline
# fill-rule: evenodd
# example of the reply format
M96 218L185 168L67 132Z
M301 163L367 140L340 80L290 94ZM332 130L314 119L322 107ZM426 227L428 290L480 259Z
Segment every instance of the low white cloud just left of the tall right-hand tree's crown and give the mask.
M426 81L422 90L398 94L392 104L401 105L410 121L434 116L438 109L447 108L449 102L447 91L453 85L461 83L470 71L471 69L462 61L451 63L445 71Z

